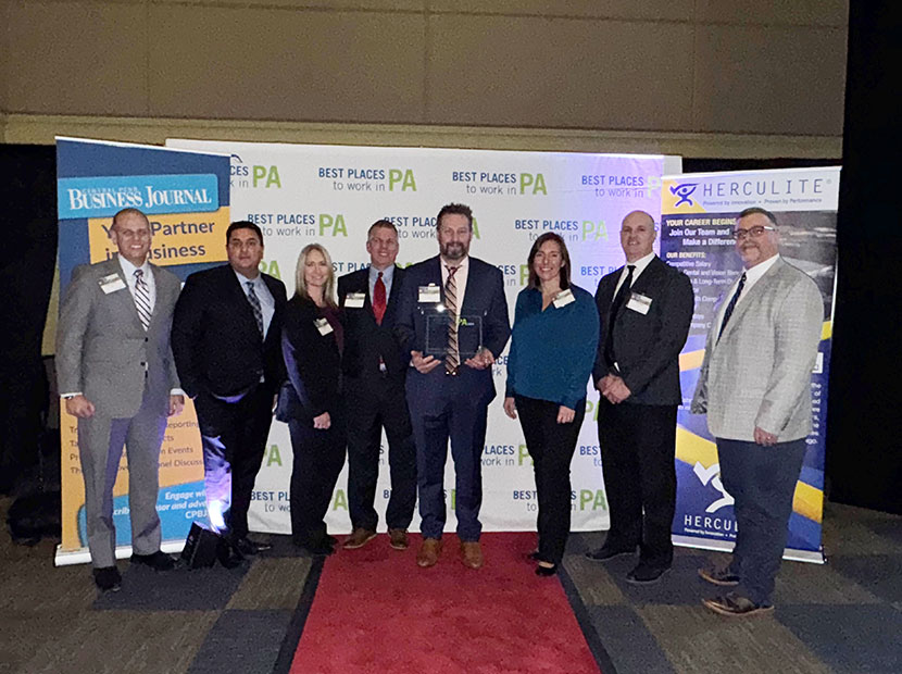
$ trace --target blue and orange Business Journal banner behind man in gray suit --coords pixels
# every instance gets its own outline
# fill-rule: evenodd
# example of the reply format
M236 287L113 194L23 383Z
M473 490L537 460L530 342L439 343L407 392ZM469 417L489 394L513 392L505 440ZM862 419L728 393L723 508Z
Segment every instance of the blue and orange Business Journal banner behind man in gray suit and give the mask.
M73 270L116 252L109 236L115 213L143 211L150 221L150 261L183 282L188 274L226 259L229 223L228 157L75 138L57 139L60 223L60 296ZM74 392L74 391L60 391ZM62 405L62 544L58 564L87 562L85 483L78 453L77 419ZM206 520L203 455L190 400L170 417L160 449L156 511L163 549L180 550L195 520ZM125 451L113 487L116 554L130 554L128 462Z

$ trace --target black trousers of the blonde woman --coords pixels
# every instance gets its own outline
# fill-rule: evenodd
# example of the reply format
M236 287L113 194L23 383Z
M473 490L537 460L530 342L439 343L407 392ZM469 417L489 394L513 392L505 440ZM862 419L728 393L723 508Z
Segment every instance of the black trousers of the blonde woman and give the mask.
M318 545L326 531L338 474L344 465L344 421L340 413L329 412L331 425L323 430L313 427L310 419L292 417L288 422L291 451L291 538L297 545Z

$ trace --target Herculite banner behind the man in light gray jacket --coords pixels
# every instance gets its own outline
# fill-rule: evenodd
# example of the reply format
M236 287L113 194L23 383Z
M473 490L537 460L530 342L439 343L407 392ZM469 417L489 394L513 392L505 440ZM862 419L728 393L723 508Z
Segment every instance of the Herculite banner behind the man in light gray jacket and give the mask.
M704 415L690 414L715 308L741 273L732 230L749 207L773 212L779 225L780 254L811 276L824 302L824 329L812 373L813 429L795 488L786 558L823 562L824 447L827 382L836 282L836 223L839 167L784 168L667 176L661 190L661 255L685 272L696 290L696 312L680 355L684 404L677 427L675 542L728 550L736 539L732 497L721 482L714 438Z

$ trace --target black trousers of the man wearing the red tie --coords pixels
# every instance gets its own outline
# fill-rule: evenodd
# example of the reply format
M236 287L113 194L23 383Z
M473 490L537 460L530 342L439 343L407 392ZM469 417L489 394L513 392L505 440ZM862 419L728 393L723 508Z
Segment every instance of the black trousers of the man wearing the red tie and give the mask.
M388 528L405 529L416 506L416 449L403 383L388 377L344 379L348 420L348 508L354 528L376 531L379 516L373 502L379 477L385 427L391 496L386 509Z

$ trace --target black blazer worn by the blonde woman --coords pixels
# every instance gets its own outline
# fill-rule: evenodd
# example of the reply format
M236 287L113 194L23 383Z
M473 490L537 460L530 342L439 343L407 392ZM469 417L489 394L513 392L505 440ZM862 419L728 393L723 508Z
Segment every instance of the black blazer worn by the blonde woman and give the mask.
M341 357L335 333L320 334L314 321L323 316L313 300L292 297L285 311L281 352L288 382L279 395L279 421L305 421L339 411Z

